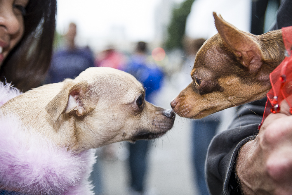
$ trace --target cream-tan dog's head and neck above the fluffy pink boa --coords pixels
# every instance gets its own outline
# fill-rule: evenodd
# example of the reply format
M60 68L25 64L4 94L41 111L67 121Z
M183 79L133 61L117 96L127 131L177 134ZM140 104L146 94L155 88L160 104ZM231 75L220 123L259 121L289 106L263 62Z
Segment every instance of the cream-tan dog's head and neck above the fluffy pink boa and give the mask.
M132 75L112 68L88 68L74 80L44 85L3 106L58 146L76 152L117 141L152 139L171 129L174 114L146 101Z

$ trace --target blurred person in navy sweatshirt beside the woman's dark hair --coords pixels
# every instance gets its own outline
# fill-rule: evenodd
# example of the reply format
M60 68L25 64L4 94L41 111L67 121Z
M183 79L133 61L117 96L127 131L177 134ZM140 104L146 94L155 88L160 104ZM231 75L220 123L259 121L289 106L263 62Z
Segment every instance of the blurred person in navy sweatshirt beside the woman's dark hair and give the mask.
M74 79L82 71L93 67L92 52L88 47L79 48L75 44L77 26L69 24L69 30L65 35L65 43L57 49L51 61L48 71L48 83L61 82L65 78Z

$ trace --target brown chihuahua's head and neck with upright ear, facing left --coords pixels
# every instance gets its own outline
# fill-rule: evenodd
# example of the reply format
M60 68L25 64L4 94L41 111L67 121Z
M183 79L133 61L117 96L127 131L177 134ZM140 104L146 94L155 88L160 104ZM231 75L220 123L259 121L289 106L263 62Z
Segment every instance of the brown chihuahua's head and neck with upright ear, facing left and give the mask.
M218 33L198 51L193 82L171 101L182 117L203 118L262 99L271 89L269 74L285 57L281 30L256 36L213 16Z

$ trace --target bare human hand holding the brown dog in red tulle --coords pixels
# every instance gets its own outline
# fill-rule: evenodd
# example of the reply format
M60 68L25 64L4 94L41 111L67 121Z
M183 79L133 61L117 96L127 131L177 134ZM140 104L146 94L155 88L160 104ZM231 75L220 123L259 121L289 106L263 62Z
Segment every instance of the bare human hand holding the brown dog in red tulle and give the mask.
M239 151L235 169L244 194L292 194L292 115L286 100L280 108Z

